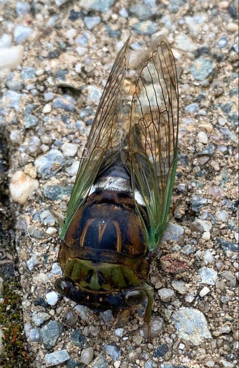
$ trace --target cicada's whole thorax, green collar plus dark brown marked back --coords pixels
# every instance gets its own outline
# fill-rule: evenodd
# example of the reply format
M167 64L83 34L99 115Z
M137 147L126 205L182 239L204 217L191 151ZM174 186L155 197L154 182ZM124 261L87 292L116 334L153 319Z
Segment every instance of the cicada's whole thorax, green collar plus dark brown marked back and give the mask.
M126 182L123 185L127 187ZM147 241L132 194L100 189L96 183L67 229L59 262L64 276L80 289L110 293L145 282L146 254Z

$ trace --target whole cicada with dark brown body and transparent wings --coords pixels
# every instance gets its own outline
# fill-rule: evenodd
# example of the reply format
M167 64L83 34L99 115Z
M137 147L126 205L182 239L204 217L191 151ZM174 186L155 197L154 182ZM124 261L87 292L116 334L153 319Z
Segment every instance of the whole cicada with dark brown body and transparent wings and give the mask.
M154 301L147 285L175 180L179 98L175 60L164 36L125 80L129 39L103 91L62 223L56 291L99 311Z

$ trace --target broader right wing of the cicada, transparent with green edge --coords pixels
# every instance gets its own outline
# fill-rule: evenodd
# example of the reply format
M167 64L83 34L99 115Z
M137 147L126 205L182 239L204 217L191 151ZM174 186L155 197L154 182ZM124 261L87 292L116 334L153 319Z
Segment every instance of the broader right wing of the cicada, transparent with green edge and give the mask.
M167 224L178 144L177 73L164 36L154 40L138 65L127 100L121 158L131 173L134 194L140 191L146 206L150 231L144 226L153 250Z

